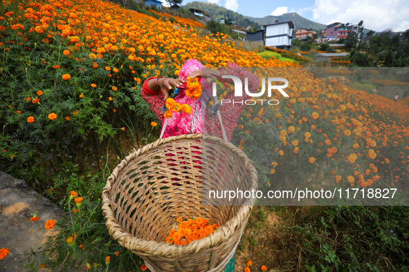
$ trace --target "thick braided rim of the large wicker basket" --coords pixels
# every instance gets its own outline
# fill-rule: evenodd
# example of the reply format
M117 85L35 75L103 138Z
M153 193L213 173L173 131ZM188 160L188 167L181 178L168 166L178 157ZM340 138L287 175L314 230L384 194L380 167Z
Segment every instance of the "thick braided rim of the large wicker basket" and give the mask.
M221 139L219 137L209 135L203 136L206 137L206 139L212 140L213 142L219 142L219 144L223 144L230 151L236 153L246 161L243 166L250 173L251 185L252 187L255 186L255 190L257 191L258 189L257 171L253 165L253 162L251 162L251 160L248 159L246 153L237 148L234 144L226 142L224 139ZM150 144L147 144L146 146L143 146L142 148L139 148L138 150L134 148L134 152L130 153L127 157L122 159L122 162L120 162L120 164L118 164L118 166L114 168L111 175L107 179L107 184L104 186L104 189L102 191L102 213L105 218L105 225L107 226L109 235L111 235L112 237L113 234L115 234L117 238L113 237L113 239L117 240L121 246L129 250L135 250L136 246L138 246L138 248L142 247L143 249L138 250L138 252L141 253L142 255L161 255L163 257L179 258L183 255L187 255L190 253L198 253L203 249L212 249L215 246L221 244L221 242L228 240L231 236L233 236L236 227L244 221L248 213L251 213L252 211L251 207L255 205L255 199L250 198L247 199L246 202L244 202L243 206L239 207L235 215L230 220L219 226L219 229L217 229L214 233L210 234L210 236L204 237L199 240L194 240L184 245L169 244L165 241L156 242L154 240L140 239L138 237L135 237L134 235L131 235L127 231L123 231L120 224L118 224L116 220L113 220L113 218L115 217L113 216L111 201L109 200L111 184L112 182L116 181L117 174L119 173L119 171L122 170L122 168L124 168L125 166L127 166L131 159L135 159L139 155L143 155L143 153L147 152L148 150L152 150L153 148L156 148L156 146L161 146L162 144L179 141L181 139L200 140L201 138L202 138L201 134L184 134L158 139L155 142L152 142ZM141 246L143 244L145 244L145 246ZM167 249L163 249L163 246L165 246Z

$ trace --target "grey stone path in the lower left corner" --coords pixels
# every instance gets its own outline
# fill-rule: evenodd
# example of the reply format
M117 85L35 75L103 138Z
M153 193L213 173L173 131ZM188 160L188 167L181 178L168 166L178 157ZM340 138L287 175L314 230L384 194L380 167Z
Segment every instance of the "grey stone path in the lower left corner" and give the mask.
M38 251L38 248L55 235L55 230L46 230L47 220L57 221L64 214L62 209L46 197L39 197L24 180L15 179L0 171L0 249L7 248L10 253L0 264L0 271L24 272L24 264L29 264L25 251ZM35 213L37 200L37 215L39 220L30 222ZM32 260L32 264L37 260ZM47 271L44 269L42 271Z

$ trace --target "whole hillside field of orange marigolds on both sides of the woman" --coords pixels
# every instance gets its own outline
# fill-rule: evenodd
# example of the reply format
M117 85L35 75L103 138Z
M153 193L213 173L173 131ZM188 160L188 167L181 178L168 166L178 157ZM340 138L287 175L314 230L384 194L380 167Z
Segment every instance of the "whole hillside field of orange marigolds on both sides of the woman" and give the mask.
M129 151L122 150L121 140L138 144L134 133L145 131L149 137L152 131L156 136L160 132L158 120L140 97L143 81L158 75L177 77L192 58L210 68L234 62L255 68L261 77L266 75L263 68L273 68L269 76L288 79L289 97L273 93L260 99L277 99L279 105L247 106L233 137L233 144L255 164L260 187L323 179L331 186L383 184L405 193L401 184L409 179L408 99L395 102L348 88L336 78L314 77L294 62L246 51L226 33L203 36L197 21L169 15L172 23L166 14L154 13L162 18L100 0L2 2L1 163L55 202L67 203L70 215L75 208L71 220L50 219L42 226L64 230L48 244L46 266L62 265L64 258L59 260L53 251L69 255L80 244L82 257L76 260L88 267L89 262L94 267L106 262L147 269L118 244L105 243L100 192L107 173ZM374 84L408 85L377 78L379 71L371 72ZM352 77L354 71L323 68L324 74ZM35 213L28 221L36 224L39 217ZM62 249L61 244L68 246ZM5 258L8 249L0 253Z

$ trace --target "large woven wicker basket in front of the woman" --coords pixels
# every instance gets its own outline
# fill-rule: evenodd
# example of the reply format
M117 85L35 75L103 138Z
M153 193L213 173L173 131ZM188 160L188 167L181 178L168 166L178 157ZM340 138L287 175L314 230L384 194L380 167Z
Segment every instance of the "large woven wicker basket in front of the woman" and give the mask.
M204 206L205 161L212 165L208 174L217 177L210 179L210 187L230 184L257 191L257 171L246 154L223 139L200 134L158 139L134 150L107 180L102 211L109 234L143 258L151 271L221 271L235 253L255 200L243 198L236 206L217 200L217 206ZM231 182L220 182L226 180ZM203 217L220 227L189 244L168 244L165 238L177 228L178 217Z

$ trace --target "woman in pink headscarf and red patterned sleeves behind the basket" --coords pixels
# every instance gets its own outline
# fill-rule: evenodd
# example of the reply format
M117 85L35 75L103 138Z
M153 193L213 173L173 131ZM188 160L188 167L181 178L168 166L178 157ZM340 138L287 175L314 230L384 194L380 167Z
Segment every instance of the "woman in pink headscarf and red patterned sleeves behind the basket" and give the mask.
M152 108L156 117L163 125L161 135L170 137L182 134L203 133L217 137L223 137L222 128L217 117L212 116L208 110L208 102L212 95L211 83L214 75L221 77L223 75L234 75L244 82L248 78L248 90L255 91L259 85L259 79L256 75L237 64L227 64L228 70L219 68L217 70L206 69L197 59L185 61L180 72L179 79L165 77L149 77L143 83L140 95L147 101ZM185 94L186 82L188 77L191 79L198 78L202 86L202 93L199 99L191 99ZM228 84L233 84L232 79L223 79ZM192 108L192 113L173 113L172 117L164 120L164 114L167 111L166 100L169 98L168 91L172 87L179 88L179 95L174 100L180 104L188 104ZM233 137L233 131L237 126L239 115L246 104L245 101L249 96L244 94L243 97L235 97L234 92L228 93L225 99L230 99L232 103L221 105L219 108L222 124L228 141ZM240 101L239 104L233 104L233 101ZM164 126L165 124L165 126Z

